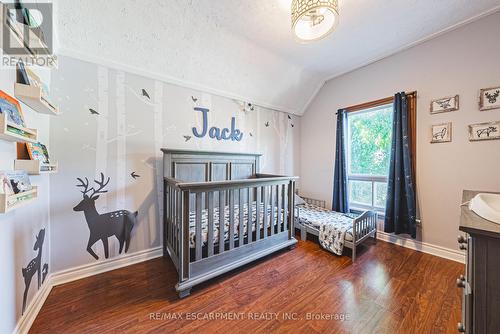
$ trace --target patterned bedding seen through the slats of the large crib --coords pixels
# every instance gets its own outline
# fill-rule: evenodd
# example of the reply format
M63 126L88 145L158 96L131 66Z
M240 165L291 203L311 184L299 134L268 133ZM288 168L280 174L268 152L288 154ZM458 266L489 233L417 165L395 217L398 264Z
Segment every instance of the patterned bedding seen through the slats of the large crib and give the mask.
M257 221L257 203L254 201L252 204L252 218L251 218L251 226L252 226L252 232L255 232L256 230L256 221ZM269 219L271 216L271 209L273 209L273 217L272 221L274 222L274 225L277 224L277 218L278 218L278 210L276 207L271 207L270 205L267 206L267 224L269 226ZM262 229L264 227L264 203L260 203L259 205L259 228ZM280 221L283 222L283 211L281 212L281 217ZM217 244L219 242L219 207L214 207L214 217L213 217L213 223L214 223L214 234L213 234L213 240L214 244ZM208 210L204 209L201 212L201 226L202 226L202 233L201 237L203 240L203 246L206 245L207 240L208 240ZM234 239L238 240L239 237L239 230L240 230L240 207L238 204L234 205ZM248 231L248 203L243 204L243 231L244 234L247 234ZM229 239L229 206L226 206L224 208L224 240ZM196 212L191 211L189 213L189 246L190 248L194 248L196 246Z

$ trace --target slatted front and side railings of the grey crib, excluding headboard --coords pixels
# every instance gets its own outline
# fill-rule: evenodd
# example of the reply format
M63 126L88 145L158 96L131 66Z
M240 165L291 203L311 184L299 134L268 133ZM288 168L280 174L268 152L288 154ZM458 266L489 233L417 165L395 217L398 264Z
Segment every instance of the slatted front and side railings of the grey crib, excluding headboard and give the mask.
M181 297L201 281L270 254L276 247L295 244L295 180L261 174L251 179L215 182L183 183L165 178L164 244L179 273L176 289ZM214 217L216 210L218 221ZM190 244L190 220L194 220L194 247ZM206 242L204 221L208 229ZM218 238L214 240L216 232Z

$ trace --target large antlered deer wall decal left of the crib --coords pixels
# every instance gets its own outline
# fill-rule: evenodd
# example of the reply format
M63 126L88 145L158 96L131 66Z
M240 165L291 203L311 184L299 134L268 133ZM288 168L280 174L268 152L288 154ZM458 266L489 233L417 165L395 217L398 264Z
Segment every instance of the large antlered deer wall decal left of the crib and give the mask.
M99 260L97 254L92 250L92 246L97 241L101 240L104 247L104 256L107 259L109 257L108 238L115 236L120 243L119 253L122 253L123 246L125 246L126 253L130 246L130 234L137 222L138 212L132 213L127 210L118 210L99 214L95 208L95 201L99 198L100 194L108 192L104 190L104 188L108 185L110 178L108 177L107 180L105 180L104 174L101 173L101 179L94 180L97 185L95 189L89 186L89 180L87 178L85 178L85 181L81 178L77 178L77 180L80 183L76 186L82 188L81 193L83 194L83 199L73 208L73 210L83 211L85 214L85 219L87 220L87 225L90 230L87 252L96 260Z

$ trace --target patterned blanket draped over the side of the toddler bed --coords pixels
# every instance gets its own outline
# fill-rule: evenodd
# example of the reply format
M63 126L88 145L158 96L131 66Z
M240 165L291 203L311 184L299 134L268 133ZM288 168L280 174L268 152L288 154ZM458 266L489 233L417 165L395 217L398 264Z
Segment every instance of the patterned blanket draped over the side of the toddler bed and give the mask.
M334 254L342 255L346 236L352 240L352 222L355 216L311 204L298 205L297 208L300 223L309 224L319 230L321 247Z

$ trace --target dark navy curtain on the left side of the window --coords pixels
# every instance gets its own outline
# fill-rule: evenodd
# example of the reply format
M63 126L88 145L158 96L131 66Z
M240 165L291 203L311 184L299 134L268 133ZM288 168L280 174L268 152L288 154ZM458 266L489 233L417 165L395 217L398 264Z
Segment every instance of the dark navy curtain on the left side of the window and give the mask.
M347 163L345 155L346 122L347 112L344 109L340 109L337 112L337 140L335 148L332 210L342 213L349 212L349 205L347 202Z

